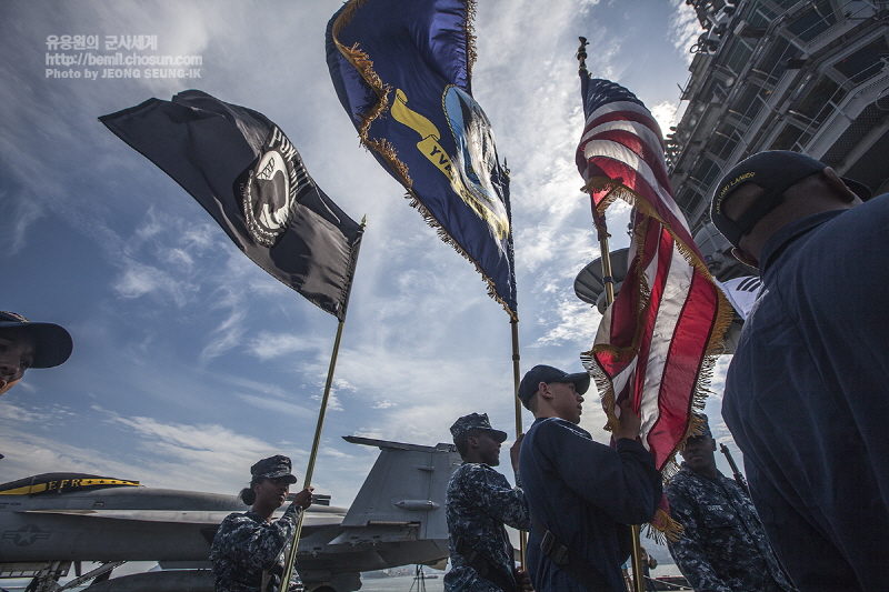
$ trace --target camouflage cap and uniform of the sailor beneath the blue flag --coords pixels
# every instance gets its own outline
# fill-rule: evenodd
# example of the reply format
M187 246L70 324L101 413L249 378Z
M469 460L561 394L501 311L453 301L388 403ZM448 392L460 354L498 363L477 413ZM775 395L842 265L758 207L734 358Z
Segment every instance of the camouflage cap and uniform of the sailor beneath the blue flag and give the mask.
M506 438L505 432L490 430L486 414L477 413L457 420L451 433L456 438L471 428L500 434L501 438L496 437L498 440ZM488 566L497 570L499 575L493 579L516 590L516 562L503 524L526 531L530 526L528 503L518 474L516 483L512 488L506 476L480 462L465 462L451 475L446 494L451 559L451 570L444 574L446 592L502 592L500 586L470 565L466 554L471 555L473 551L485 558ZM458 539L463 542L463 553L458 552Z

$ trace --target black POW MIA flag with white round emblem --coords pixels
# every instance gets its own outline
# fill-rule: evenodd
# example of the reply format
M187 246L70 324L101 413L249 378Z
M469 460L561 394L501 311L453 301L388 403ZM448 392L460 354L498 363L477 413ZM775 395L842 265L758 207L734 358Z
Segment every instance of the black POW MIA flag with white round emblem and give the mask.
M363 227L314 184L266 116L187 90L99 120L182 185L254 263L344 320Z

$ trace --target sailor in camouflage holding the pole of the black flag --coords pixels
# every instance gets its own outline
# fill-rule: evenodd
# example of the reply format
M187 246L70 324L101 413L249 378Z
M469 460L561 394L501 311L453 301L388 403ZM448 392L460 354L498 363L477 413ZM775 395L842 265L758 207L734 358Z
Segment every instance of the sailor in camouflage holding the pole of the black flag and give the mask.
M290 485L297 482L290 466L290 459L279 454L250 468L250 486L243 489L240 496L252 508L226 516L210 546L216 592L279 591L297 521L312 503L312 488L304 489L297 493L280 519L271 521L274 511L287 500ZM294 566L288 592L302 590Z

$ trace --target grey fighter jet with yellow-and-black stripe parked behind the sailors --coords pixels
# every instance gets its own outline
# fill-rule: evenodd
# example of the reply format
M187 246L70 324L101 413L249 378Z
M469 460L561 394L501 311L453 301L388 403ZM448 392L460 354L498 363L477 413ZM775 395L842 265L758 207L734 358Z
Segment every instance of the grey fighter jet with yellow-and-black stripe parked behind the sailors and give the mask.
M362 571L443 568L444 490L460 463L453 445L344 439L381 452L351 508L316 502L307 511L298 554L307 589L351 592L360 588ZM29 578L29 592L88 582L90 592L212 592L210 543L222 519L244 510L236 495L108 476L20 479L0 485L0 579ZM128 561L157 561L161 569L110 579ZM100 565L82 573L83 562ZM60 584L72 565L77 576Z

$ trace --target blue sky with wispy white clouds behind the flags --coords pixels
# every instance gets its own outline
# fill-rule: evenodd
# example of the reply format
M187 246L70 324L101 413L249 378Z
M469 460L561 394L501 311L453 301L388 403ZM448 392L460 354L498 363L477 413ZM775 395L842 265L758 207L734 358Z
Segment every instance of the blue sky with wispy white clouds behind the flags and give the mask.
M316 182L353 219L368 217L317 491L348 505L376 458L341 435L447 442L472 411L512 431L508 317L359 147L324 63L340 6L0 3L0 310L58 322L74 340L64 365L29 371L0 400L0 481L76 471L234 493L274 453L304 474L336 319L250 262L97 120L189 88L264 113ZM579 371L600 317L572 288L599 254L575 167L577 37L591 43L591 72L669 123L698 24L682 0L480 0L475 26L473 93L511 169L522 371ZM157 51L141 53L200 56L201 78L47 78L53 34L157 36ZM617 249L627 209L613 210ZM707 410L728 441L719 397ZM600 441L603 421L588 398L582 425Z

